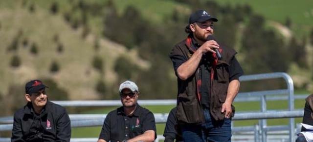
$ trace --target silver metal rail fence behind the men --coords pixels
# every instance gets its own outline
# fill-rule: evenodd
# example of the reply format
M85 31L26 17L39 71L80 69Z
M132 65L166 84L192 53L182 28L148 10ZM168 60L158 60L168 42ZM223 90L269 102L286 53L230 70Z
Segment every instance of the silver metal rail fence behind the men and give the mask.
M235 101L261 101L260 108L261 112L245 112L236 113L233 120L260 120L258 125L244 126L244 127L233 127L233 133L236 132L254 132L255 142L267 142L267 133L272 131L289 131L289 141L295 141L295 117L302 117L303 110L294 110L294 99L304 99L307 95L299 95L294 97L293 95L293 82L291 77L286 73L270 73L270 74L257 74L247 75L240 78L241 81L256 81L266 79L277 79L283 78L286 81L287 89L278 90L266 90L266 91L252 91L252 92L240 92ZM273 96L280 95L280 96ZM281 96L288 95L288 96ZM288 100L288 110L267 110L266 101L275 100ZM63 106L119 106L121 102L119 100L111 101L54 101ZM176 100L139 100L141 105L176 105ZM155 114L157 123L166 122L168 114ZM72 127L86 127L86 126L101 126L103 124L106 115L99 114L70 114ZM281 126L267 126L266 119L273 118L290 118L289 125ZM12 129L12 117L0 118L0 131ZM2 124L1 124L2 123ZM0 142L1 139L0 138ZM75 140L75 141L74 141ZM83 140L83 139L81 139ZM80 141L79 139L73 139L71 142L87 142Z

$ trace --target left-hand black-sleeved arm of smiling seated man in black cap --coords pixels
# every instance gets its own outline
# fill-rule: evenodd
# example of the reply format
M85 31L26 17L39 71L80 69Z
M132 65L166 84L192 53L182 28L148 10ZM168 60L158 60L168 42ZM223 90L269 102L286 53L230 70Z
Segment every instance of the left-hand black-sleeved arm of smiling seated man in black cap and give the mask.
M17 114L14 114L11 142L25 142L22 137L21 120L17 118Z

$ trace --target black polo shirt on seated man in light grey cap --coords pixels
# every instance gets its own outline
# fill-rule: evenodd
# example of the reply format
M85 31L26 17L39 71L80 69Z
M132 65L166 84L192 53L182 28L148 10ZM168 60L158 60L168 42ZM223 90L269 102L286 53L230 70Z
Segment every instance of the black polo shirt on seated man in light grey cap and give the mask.
M156 122L152 112L137 104L133 115L126 116L121 106L107 115L99 139L107 142L122 142L141 135L147 130L154 130L156 138Z

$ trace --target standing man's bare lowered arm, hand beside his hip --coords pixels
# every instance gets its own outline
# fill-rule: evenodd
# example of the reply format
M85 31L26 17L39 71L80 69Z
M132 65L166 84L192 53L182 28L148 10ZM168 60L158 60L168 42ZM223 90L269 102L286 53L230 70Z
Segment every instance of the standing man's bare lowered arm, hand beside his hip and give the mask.
M232 113L231 104L238 94L239 86L239 80L232 80L228 84L226 100L222 105L222 113L225 112L225 118L229 118Z

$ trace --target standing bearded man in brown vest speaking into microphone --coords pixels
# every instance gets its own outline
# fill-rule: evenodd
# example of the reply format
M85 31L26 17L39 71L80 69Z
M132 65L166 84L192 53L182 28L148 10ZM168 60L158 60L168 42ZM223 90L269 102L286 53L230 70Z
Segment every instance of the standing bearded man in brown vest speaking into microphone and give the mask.
M217 21L204 10L192 13L185 29L189 35L170 54L178 77L177 119L184 142L230 142L232 102L243 70L236 51L212 38Z

